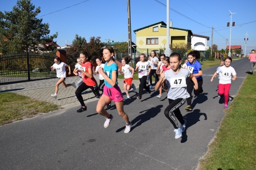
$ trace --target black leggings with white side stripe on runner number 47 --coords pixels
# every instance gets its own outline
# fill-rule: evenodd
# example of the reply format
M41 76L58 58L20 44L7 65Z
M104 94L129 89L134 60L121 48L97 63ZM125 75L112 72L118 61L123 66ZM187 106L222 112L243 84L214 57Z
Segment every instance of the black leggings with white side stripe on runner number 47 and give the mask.
M172 123L174 129L178 129L179 125L175 117L177 117L178 121L184 125L184 119L182 117L182 114L180 113L180 107L186 102L186 99L178 98L175 100L168 99L169 100L169 106L166 107L164 110L164 115L169 119L169 121ZM174 113L174 115L173 115Z

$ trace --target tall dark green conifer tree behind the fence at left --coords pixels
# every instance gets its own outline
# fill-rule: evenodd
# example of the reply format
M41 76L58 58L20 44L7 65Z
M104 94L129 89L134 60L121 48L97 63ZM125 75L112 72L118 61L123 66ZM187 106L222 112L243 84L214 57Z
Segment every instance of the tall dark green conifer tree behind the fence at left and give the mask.
M12 52L36 51L40 44L50 43L58 36L57 32L48 35L49 24L42 23L42 19L36 17L41 12L40 7L35 9L30 1L18 0L12 11L0 14L2 51L6 51L6 48Z

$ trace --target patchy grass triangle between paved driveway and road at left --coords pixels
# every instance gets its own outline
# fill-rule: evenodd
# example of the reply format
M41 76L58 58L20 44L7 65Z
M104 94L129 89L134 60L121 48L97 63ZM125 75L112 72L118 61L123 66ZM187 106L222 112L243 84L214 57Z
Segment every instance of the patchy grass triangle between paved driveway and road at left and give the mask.
M10 92L0 93L0 125L57 109L60 108L49 102L38 101Z

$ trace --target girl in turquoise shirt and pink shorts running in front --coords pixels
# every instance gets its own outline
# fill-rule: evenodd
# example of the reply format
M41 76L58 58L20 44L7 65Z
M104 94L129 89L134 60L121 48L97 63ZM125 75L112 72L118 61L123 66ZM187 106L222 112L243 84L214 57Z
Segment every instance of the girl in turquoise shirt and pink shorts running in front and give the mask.
M114 59L114 49L111 46L106 46L103 50L103 57L106 61L104 70L107 72L107 75L104 73L104 70L100 67L98 72L105 79L105 86L103 94L98 101L96 111L100 115L106 117L104 127L107 128L110 124L110 121L113 119L113 115L109 114L104 107L113 100L116 104L116 109L118 114L122 116L126 122L126 127L124 133L129 133L132 127L132 123L129 121L128 115L124 112L124 98L122 92L118 87L117 77L118 77L118 66L115 63Z

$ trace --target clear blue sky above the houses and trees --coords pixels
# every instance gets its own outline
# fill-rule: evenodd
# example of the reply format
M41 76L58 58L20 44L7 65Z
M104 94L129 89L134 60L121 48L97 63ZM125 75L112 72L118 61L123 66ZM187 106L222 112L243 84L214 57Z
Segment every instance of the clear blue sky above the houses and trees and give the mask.
M50 35L58 32L54 39L64 46L72 44L75 35L101 37L102 42L128 41L127 0L31 0L35 7L41 8L38 18L49 23ZM141 27L166 21L167 0L130 0L132 41L136 43L133 32ZM225 49L230 43L230 12L232 22L240 27L231 29L231 45L241 45L243 53L256 49L256 10L254 0L170 0L170 20L172 26L190 29L192 33L210 37L207 45L218 45ZM0 0L0 11L12 11L17 0ZM250 7L252 6L252 7ZM250 10L251 8L251 10ZM212 37L212 27L214 28ZM244 41L246 38L248 41Z

